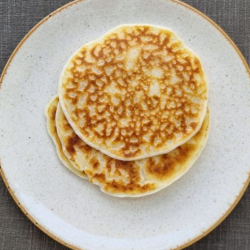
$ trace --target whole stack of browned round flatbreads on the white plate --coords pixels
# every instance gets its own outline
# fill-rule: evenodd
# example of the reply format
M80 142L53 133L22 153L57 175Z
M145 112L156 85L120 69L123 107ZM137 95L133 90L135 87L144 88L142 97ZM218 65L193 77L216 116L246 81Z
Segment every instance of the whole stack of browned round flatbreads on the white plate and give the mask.
M59 158L118 197L155 193L184 175L208 137L199 58L173 31L123 25L66 63L46 107Z

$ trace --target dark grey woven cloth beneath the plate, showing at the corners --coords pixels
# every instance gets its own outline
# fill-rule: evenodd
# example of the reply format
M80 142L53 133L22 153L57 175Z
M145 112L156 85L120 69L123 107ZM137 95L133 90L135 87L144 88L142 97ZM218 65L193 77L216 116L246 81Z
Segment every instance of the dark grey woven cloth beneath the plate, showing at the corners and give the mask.
M0 72L24 35L68 0L0 0ZM185 0L218 23L250 63L250 0ZM250 98L250 97L249 97ZM249 128L250 129L250 128ZM66 250L19 210L0 178L0 250ZM250 188L231 215L188 250L250 249Z

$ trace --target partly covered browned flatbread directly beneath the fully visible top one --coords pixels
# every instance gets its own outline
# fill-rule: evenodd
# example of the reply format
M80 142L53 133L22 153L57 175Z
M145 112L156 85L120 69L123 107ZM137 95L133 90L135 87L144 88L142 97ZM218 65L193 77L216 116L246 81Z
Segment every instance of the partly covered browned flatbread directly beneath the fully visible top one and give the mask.
M52 105L53 102L51 102ZM54 103L55 104L55 103ZM54 106L53 104L53 106ZM141 197L160 191L183 176L200 156L209 131L209 113L200 131L175 150L143 160L120 161L104 155L84 143L68 123L60 104L55 123L61 143L55 143L62 159L77 171L85 171L90 182L104 193L117 197ZM66 161L62 160L65 164Z

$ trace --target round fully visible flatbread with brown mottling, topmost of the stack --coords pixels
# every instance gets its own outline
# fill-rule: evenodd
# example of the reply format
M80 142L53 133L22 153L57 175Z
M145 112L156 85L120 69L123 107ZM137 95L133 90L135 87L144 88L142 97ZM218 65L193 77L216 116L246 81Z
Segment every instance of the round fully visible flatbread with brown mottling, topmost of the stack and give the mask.
M168 153L199 131L207 84L198 57L172 31L124 25L71 57L59 99L86 144L131 161Z

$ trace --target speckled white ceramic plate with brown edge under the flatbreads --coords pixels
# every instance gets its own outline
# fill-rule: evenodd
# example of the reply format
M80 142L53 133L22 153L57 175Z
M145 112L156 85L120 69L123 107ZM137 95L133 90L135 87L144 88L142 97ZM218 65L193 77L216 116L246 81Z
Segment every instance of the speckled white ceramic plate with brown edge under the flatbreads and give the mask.
M126 23L172 29L201 58L210 85L210 138L179 181L154 195L119 199L62 166L44 108L60 72L82 44ZM249 182L249 69L237 48L201 13L167 0L86 0L61 8L15 50L0 90L1 173L39 228L74 249L182 248L211 231Z

